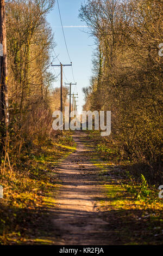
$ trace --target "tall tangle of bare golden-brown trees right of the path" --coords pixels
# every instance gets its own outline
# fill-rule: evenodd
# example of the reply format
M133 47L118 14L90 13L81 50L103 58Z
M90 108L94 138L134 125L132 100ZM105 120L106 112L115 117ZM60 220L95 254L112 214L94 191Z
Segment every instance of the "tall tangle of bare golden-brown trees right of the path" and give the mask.
M114 144L123 159L161 177L163 3L160 0L88 0L80 18L95 37L96 57L85 106L111 110Z

